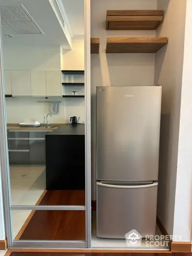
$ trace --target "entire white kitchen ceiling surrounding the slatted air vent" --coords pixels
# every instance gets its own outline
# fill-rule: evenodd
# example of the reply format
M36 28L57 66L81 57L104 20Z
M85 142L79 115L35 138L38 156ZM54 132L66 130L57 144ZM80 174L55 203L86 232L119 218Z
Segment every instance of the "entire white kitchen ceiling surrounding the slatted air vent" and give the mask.
M84 0L61 0L61 2L67 14L72 36L84 35ZM49 0L0 0L0 4L23 4L44 32L44 35L21 35L2 24L3 44L62 45L66 49L69 48L68 40ZM6 35L13 37L7 38Z

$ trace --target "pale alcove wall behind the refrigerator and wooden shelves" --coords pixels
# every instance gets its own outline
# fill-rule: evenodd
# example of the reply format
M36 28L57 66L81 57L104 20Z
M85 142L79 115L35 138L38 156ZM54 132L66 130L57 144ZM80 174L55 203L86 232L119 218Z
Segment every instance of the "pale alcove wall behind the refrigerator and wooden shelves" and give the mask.
M96 200L96 86L154 85L155 54L106 54L107 37L155 37L156 31L106 31L107 10L156 10L156 0L91 0L91 37L100 54L91 56L92 200Z

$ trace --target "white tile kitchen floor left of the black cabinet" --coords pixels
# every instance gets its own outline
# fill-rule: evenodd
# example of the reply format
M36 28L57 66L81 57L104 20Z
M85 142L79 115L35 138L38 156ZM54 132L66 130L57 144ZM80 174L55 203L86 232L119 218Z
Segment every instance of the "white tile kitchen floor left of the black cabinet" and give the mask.
M46 188L46 176L44 165L11 165L11 200L12 205L35 206L39 197ZM13 210L13 238L22 228L31 210Z

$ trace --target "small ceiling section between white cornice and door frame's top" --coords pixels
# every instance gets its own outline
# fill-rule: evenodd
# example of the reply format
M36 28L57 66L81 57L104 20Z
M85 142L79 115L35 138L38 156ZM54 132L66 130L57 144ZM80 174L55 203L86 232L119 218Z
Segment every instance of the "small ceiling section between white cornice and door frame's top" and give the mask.
M84 36L84 0L61 0L73 37Z

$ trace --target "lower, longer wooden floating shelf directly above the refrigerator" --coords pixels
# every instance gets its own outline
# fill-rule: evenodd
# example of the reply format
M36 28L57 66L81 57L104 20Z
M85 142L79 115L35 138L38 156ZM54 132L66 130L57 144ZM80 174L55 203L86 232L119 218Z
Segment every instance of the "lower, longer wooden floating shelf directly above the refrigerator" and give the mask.
M168 37L108 37L106 53L155 53Z

